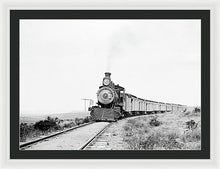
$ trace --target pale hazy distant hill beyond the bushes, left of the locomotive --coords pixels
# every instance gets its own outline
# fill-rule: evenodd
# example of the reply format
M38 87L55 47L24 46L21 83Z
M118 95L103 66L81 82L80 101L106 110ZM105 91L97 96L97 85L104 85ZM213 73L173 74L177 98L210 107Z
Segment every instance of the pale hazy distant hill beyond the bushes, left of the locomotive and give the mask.
M85 118L86 116L90 116L89 112L70 112L70 113L60 113L60 114L48 114L48 115L20 115L20 123L35 123L40 120L44 120L50 117L58 117L61 120L66 119L75 119L75 118Z

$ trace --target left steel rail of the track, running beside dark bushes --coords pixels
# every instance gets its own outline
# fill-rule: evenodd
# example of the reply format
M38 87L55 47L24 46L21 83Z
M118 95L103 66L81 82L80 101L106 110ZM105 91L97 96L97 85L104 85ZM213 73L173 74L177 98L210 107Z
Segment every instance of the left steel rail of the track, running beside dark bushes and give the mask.
M90 123L84 123L84 124L81 124L81 125L78 125L78 126L74 126L70 129L67 129L67 130L64 130L64 131L61 131L61 132L58 132L58 133L55 133L55 134L51 134L49 136L46 136L46 137L43 137L43 138L39 138L39 139L36 139L36 140L33 140L33 141L30 141L30 142L27 142L27 143L23 143L23 144L20 144L20 149L21 148L25 148L27 146L31 146L33 144L36 144L38 142L41 142L41 141L44 141L44 140L47 140L49 138L52 138L52 137L55 137L55 136L58 136L58 135L61 135L61 134L64 134L64 133L67 133L69 131L72 131L72 130L75 130L75 129L78 129L78 128L81 128L81 127L84 127L84 126L87 126L87 125L90 125L90 124L93 124L94 122L90 122Z

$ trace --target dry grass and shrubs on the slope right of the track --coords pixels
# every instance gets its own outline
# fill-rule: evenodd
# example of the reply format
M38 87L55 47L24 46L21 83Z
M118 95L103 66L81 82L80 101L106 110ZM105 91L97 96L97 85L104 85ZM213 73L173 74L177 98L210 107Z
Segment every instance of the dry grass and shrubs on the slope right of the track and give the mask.
M199 108L130 119L124 125L124 141L131 150L200 150Z

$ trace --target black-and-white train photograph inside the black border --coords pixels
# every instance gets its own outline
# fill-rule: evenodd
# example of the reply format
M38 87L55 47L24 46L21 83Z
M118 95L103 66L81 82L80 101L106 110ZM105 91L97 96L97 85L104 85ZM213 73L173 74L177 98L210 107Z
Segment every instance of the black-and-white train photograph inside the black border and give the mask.
M200 24L20 20L22 149L200 150Z

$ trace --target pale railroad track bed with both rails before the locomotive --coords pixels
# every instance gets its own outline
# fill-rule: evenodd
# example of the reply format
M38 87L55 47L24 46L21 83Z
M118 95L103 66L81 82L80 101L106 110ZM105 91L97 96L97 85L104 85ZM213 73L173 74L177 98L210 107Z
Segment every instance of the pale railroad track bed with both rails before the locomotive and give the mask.
M21 150L85 150L109 126L109 122L92 122L20 145Z

